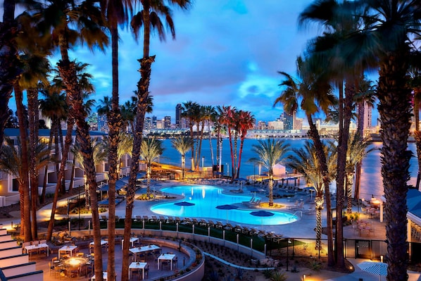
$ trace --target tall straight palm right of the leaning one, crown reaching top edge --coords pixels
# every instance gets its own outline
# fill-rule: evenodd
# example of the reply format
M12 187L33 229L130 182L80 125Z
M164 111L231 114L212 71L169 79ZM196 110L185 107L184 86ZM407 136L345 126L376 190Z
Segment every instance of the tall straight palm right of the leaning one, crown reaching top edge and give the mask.
M344 13L353 11L353 13ZM313 40L309 48L310 61L315 68L326 70L329 79L339 86L339 139L337 165L337 218L342 216L344 208L344 183L346 151L348 150L349 126L355 104L354 96L358 89L361 73L372 60L365 53L356 52L346 43L352 32L358 32L363 22L355 16L360 10L351 1L322 0L310 4L300 15L300 22L315 21L327 30L322 37ZM346 81L345 90L343 84ZM344 96L345 94L345 96ZM337 220L337 242L343 239L342 220ZM337 243L337 266L344 268L343 244Z

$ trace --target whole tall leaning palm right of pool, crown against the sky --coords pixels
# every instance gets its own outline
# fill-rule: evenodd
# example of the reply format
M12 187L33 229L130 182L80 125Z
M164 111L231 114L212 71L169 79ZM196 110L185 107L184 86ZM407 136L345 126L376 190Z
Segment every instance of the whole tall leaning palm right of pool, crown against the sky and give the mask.
M329 85L329 82L324 76L325 73L323 73L321 69L318 71L309 71L306 66L306 61L303 61L301 57L297 58L296 66L299 79L288 73L279 72L279 74L285 78L279 85L284 87L284 90L277 99L275 99L274 106L278 103L284 104L284 110L287 110L289 113L293 113L300 106L306 114L308 125L310 125L308 134L314 142L318 156L320 174L322 175L323 180L325 180L326 208L330 210L332 204L329 191L329 169L323 144L318 129L313 121L313 115L320 110L327 114L329 108L336 104L336 99L332 94L332 87ZM299 100L301 100L300 103ZM327 263L329 266L334 266L332 213L327 212L326 220Z

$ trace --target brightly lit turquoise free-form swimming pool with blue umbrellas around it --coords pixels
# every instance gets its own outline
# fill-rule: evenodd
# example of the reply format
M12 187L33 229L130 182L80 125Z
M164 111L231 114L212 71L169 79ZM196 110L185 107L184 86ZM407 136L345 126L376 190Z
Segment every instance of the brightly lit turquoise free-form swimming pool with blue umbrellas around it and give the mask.
M271 211L274 216L256 217L250 214L256 210L220 210L219 205L237 204L249 201L252 196L223 194L222 189L208 185L165 187L162 192L184 196L180 201L193 203L194 206L177 206L176 202L157 204L151 207L153 213L165 216L208 218L212 220L232 220L235 223L251 225L283 225L293 223L299 218L291 213ZM178 202L180 202L178 201Z

